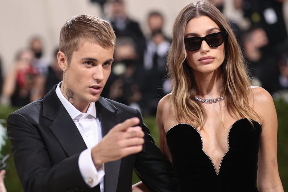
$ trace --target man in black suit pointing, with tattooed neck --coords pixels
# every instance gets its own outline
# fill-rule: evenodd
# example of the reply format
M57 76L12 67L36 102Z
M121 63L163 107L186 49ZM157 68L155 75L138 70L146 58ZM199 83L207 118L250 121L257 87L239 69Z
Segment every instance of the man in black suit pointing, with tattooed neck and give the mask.
M109 23L98 17L67 20L57 55L63 81L8 117L25 191L131 191L134 168L151 191L173 191L139 111L100 97L115 41Z

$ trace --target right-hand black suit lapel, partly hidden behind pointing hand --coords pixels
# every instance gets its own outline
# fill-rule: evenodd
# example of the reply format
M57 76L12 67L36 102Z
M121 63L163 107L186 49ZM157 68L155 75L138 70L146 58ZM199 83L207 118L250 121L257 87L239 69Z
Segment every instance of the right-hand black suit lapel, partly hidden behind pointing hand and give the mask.
M122 122L122 120L116 116L117 108L112 105L106 99L100 97L96 102L96 109L101 122L103 137L113 128L115 125ZM119 177L121 159L117 161L108 162L104 165L104 190L116 191Z

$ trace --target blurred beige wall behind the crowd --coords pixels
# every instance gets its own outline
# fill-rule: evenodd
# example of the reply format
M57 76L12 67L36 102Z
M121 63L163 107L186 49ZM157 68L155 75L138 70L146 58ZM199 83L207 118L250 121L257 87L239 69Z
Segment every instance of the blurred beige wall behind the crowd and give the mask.
M164 31L170 34L179 11L193 1L126 0L126 9L129 16L140 22L144 32L147 31L149 11L161 11L166 18ZM245 26L241 13L232 8L232 0L226 0L226 5L226 15ZM285 7L288 10L287 2ZM109 12L109 7L106 7L106 11ZM4 73L13 64L17 50L26 47L33 35L40 35L44 39L44 56L51 59L58 45L61 26L71 16L82 13L101 16L98 5L91 4L89 0L0 0L0 55ZM287 18L288 11L285 13Z

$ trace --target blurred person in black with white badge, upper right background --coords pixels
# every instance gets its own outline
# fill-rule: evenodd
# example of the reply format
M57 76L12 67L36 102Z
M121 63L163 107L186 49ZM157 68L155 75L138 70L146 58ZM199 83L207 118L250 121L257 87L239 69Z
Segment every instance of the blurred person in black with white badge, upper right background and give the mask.
M261 86L270 94L277 91L275 86L279 76L277 63L288 44L283 16L284 2L285 0L234 0L235 8L243 10L244 17L250 21L250 29L257 29L252 32L254 36L259 36L259 39L266 36L265 45L257 48L261 53L258 64L254 65L252 61L250 65L255 66ZM255 37L253 41L259 42L259 39ZM246 51L246 55L252 56L253 53ZM249 64L251 57L247 56L247 58Z

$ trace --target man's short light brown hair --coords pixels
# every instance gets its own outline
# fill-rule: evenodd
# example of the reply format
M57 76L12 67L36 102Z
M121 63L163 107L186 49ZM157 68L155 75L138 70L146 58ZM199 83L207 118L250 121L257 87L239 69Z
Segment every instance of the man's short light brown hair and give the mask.
M59 51L67 57L68 64L72 54L77 51L80 39L91 41L103 48L115 47L116 36L109 22L88 14L68 19L60 31Z

